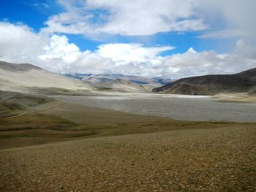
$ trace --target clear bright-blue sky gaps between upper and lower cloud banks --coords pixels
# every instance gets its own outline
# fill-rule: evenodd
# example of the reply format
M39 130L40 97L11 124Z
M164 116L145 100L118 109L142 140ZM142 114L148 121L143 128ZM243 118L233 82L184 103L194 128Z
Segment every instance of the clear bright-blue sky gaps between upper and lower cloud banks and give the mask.
M44 0L2 0L0 7L0 19L8 20L11 23L24 23L27 26L39 32L41 28L45 27L44 23L51 15L64 12L65 9L58 1L44 1ZM96 11L92 12L93 14ZM96 12L97 13L97 12ZM86 38L83 35L69 35L69 42L74 42L81 50L96 50L97 46L102 43L142 43L146 46L155 45L171 45L176 47L175 50L161 53L167 55L170 53L184 53L189 47L194 47L195 50L217 50L219 53L228 53L236 45L236 41L232 39L200 39L197 38L204 31L188 31L188 32L165 32L158 33L151 36L138 36L138 37L124 37L113 36L108 39L94 40Z

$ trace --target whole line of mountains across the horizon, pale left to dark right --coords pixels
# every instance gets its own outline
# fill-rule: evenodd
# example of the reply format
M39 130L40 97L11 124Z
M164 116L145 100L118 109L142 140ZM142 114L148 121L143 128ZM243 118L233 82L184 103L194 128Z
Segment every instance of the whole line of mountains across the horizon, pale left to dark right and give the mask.
M256 68L237 74L209 74L171 79L123 74L56 74L31 64L0 61L0 90L29 93L67 93L74 91L117 91L214 95L218 93L256 93ZM167 85L165 85L167 83ZM28 91L29 90L29 91ZM66 91L69 90L69 91Z

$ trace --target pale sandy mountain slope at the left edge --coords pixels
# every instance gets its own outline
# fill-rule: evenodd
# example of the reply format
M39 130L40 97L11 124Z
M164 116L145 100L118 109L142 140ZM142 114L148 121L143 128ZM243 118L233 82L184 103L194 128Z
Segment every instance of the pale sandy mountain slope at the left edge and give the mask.
M61 74L48 72L31 64L11 64L0 61L0 89L15 88L64 88L88 90L89 85Z

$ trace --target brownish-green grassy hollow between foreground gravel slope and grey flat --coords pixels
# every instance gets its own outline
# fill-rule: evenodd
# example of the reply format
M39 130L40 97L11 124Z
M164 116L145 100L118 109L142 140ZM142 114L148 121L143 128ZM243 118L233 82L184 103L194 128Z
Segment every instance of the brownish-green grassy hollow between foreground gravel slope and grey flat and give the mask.
M141 134L251 123L196 122L61 104L44 112L0 120L0 149L69 139ZM24 140L27 139L27 142Z

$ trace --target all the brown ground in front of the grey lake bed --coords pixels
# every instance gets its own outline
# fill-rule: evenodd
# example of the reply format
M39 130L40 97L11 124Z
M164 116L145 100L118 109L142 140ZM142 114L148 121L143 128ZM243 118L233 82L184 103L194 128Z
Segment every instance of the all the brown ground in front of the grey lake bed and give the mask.
M256 124L60 104L0 120L0 191L256 191Z

